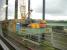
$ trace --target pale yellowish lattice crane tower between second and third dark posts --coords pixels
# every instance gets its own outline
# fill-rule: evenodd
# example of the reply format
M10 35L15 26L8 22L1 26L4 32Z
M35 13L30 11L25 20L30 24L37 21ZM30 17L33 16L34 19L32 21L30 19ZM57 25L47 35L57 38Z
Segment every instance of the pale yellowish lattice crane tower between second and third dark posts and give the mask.
M26 0L22 0L22 5L20 5L20 13L21 13L21 19L22 22L25 22L26 19Z

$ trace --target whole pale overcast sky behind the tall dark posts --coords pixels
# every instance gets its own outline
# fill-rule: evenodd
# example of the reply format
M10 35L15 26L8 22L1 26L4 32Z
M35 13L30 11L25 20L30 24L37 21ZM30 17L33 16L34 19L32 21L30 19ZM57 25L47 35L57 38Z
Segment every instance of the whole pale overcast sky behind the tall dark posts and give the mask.
M0 7L2 6L1 4L3 3L2 1L5 0L0 0ZM9 19L14 18L14 4L15 4L13 3L14 1L15 0L9 0L9 5L8 5ZM42 1L43 0L31 0L31 9L33 10L33 12L31 13L31 18L33 19L42 18ZM22 1L19 0L19 3L21 2ZM18 16L20 17L20 10L18 13L19 13ZM4 14L4 10L3 11L0 10L0 15L2 18L3 18L3 14ZM0 20L2 19L1 17ZM45 19L67 20L67 0L45 0Z

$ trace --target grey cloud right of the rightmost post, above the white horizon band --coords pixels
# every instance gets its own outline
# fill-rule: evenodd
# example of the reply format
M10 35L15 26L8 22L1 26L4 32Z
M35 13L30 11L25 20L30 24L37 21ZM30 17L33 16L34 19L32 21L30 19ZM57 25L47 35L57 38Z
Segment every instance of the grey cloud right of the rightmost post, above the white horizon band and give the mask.
M67 0L49 0L46 2L45 12L52 15L67 15Z

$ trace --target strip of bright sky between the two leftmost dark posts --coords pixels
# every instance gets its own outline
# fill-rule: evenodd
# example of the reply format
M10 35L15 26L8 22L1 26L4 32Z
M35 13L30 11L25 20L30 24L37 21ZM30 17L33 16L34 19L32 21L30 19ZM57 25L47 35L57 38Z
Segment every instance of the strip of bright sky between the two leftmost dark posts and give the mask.
M15 0L8 1L8 19L14 19Z

